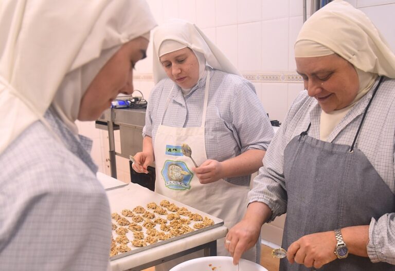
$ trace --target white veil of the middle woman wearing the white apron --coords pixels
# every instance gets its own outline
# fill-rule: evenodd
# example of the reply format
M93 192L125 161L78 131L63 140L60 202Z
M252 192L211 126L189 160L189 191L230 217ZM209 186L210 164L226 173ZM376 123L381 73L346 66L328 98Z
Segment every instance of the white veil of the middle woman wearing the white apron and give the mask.
M161 45L169 40L181 45L172 46L174 43L169 43L169 46L165 45L167 49L161 49ZM241 76L236 67L230 63L221 50L197 26L184 20L173 19L158 26L153 32L153 72L155 84L162 79L168 78L159 61L159 56L163 55L164 52L170 53L171 51L182 49L181 47L192 49L199 61L200 67L202 57L199 56L199 53L203 54L207 64L212 68ZM161 49L160 53L159 49Z

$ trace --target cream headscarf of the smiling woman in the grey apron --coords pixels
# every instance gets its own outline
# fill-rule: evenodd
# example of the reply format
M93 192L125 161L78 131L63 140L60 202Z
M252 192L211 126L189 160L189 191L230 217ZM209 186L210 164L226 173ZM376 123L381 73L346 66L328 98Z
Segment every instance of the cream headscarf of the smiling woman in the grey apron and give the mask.
M364 72L395 79L395 55L362 11L335 0L315 12L300 30L295 57L335 52Z

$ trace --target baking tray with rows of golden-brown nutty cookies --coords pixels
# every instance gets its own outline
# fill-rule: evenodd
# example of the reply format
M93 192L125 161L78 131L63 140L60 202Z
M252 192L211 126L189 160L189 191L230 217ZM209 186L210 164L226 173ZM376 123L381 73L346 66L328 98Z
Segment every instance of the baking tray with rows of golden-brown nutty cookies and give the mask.
M222 219L130 183L107 191L112 212L110 260L224 224Z

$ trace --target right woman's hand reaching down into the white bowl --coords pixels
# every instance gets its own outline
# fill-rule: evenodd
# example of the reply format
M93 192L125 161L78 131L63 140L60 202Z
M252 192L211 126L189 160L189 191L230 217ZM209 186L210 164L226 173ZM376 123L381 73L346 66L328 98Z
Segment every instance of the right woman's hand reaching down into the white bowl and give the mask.
M252 248L257 243L261 225L244 218L232 227L225 238L225 248L233 257L233 263L238 264L244 251ZM230 242L229 242L230 241Z

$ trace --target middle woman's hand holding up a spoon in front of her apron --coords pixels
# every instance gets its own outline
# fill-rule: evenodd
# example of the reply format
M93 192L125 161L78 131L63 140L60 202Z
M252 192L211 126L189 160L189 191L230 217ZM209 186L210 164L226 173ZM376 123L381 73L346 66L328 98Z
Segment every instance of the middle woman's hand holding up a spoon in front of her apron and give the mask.
M221 162L216 160L206 160L199 167L194 167L192 170L202 184L213 183L224 177L223 166Z

